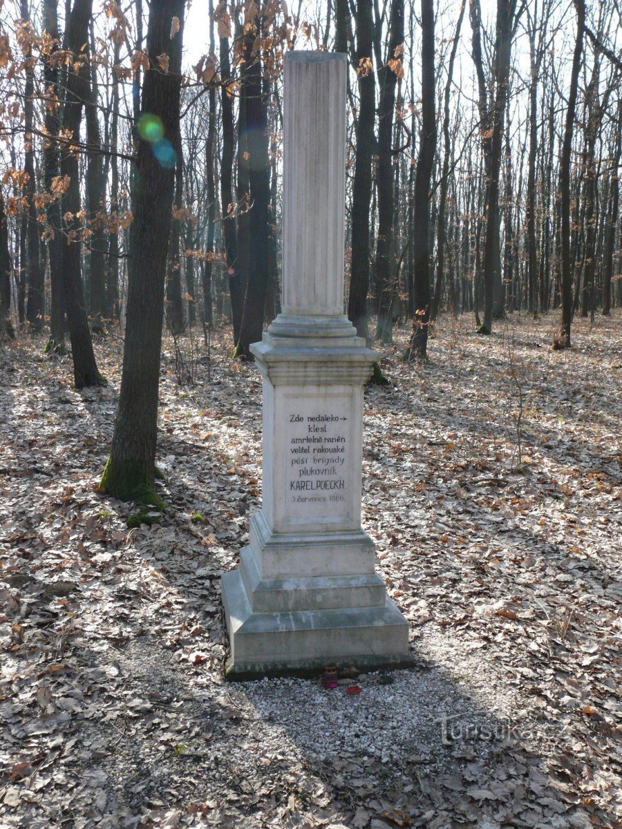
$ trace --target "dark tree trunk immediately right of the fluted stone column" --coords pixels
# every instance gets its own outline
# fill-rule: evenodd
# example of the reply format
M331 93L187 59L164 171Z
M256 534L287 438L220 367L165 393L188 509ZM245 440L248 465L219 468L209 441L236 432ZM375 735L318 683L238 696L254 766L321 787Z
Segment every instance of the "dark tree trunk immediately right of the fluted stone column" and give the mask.
M372 0L357 0L357 63L372 61ZM352 259L347 316L359 337L369 342L367 293L369 292L369 206L372 200L372 154L376 82L371 65L358 73L360 105L357 118L357 148L352 184Z

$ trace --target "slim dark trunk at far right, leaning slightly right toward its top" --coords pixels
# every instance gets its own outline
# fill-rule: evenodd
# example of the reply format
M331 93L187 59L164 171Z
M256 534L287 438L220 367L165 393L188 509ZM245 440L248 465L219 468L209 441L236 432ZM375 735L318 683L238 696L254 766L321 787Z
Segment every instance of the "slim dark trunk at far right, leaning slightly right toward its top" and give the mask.
M586 30L586 2L575 0L576 7L576 41L572 57L570 91L566 109L566 126L564 141L561 145L559 166L559 187L561 191L561 327L558 337L553 341L557 348L571 347L572 322L572 269L571 269L571 152L572 133L575 125L576 93L579 85L581 56L583 54L583 35Z

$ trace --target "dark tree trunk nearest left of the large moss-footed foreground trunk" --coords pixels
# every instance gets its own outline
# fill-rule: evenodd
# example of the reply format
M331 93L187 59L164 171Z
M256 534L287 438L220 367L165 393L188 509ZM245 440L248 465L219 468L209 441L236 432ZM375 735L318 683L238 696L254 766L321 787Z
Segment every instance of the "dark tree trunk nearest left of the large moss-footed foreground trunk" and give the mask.
M89 40L89 20L93 0L75 0L68 21L66 46L73 51L75 61L80 60L80 49ZM89 66L80 62L70 65L66 76L66 97L63 128L77 142L80 137L82 107L89 99ZM71 355L74 362L76 389L88 385L101 385L103 378L97 370L93 342L90 337L89 321L86 316L85 293L80 274L80 242L73 240L80 234L80 178L78 156L66 147L61 155L61 175L69 176L69 187L63 197L64 230L69 236L63 244L63 284L67 322L69 323Z

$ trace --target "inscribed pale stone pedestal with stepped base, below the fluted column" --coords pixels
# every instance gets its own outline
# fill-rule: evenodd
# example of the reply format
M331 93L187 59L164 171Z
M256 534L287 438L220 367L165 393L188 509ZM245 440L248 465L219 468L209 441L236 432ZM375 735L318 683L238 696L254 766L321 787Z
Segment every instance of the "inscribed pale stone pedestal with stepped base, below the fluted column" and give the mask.
M346 336L335 336L338 322ZM345 322L282 337L277 318L252 347L264 376L264 498L240 570L222 577L231 679L409 664L408 624L361 527L363 385L375 355Z

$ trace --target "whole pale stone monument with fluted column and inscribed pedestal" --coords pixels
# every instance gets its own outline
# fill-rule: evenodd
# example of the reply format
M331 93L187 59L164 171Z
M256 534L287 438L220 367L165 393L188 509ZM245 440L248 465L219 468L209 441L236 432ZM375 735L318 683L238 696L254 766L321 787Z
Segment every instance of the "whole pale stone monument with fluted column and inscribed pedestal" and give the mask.
M222 577L230 679L409 664L408 623L361 527L363 385L376 355L343 314L345 55L285 57L283 312L263 375L263 506Z

